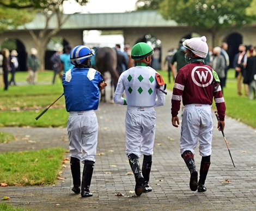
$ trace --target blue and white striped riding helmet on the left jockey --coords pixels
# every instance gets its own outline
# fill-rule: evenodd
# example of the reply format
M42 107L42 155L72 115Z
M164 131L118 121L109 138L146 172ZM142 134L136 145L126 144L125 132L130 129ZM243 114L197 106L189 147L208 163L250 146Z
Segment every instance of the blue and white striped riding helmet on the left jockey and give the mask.
M94 50L86 46L76 46L70 52L70 62L73 65L80 65L84 60L92 57Z

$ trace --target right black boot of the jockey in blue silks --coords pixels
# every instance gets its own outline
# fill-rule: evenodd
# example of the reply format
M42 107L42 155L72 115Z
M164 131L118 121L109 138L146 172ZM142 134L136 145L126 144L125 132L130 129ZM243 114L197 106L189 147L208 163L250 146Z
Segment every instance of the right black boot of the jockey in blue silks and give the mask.
M93 176L93 167L94 167L93 161L86 160L84 162L82 187L81 187L81 196L82 197L93 196L93 194L90 193L90 190L89 190L90 182L92 181L92 176Z

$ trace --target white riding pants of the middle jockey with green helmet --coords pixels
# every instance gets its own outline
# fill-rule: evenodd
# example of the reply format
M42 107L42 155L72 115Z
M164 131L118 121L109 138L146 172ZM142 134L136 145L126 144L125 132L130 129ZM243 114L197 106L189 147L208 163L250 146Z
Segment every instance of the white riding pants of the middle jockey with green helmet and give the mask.
M128 106L125 117L126 154L153 154L156 112L154 107Z

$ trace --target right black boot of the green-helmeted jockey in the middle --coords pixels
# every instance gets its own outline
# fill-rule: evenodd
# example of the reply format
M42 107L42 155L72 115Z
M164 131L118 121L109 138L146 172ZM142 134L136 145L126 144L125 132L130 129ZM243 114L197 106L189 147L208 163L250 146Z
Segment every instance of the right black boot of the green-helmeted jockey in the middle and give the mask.
M142 164L142 175L144 177L144 193L152 191L152 188L149 187L149 175L151 171L151 165L152 165L152 156L145 156L143 158L143 164Z

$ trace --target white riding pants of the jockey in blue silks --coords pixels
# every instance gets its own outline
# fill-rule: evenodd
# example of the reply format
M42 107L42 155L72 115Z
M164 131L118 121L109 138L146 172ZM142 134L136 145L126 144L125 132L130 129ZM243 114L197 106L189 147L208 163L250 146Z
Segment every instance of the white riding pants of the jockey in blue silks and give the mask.
M70 111L68 136L70 157L95 162L98 123L94 110Z

